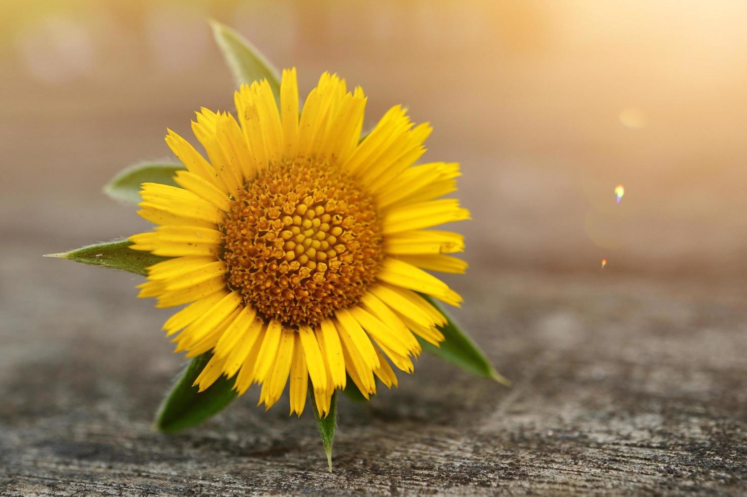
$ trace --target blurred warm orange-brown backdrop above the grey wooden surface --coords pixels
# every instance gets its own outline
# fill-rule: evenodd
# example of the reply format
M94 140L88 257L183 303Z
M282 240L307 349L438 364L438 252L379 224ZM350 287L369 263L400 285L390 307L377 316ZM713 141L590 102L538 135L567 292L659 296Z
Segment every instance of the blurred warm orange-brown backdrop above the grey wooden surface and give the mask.
M697 0L4 0L3 250L146 226L101 186L170 157L165 130L190 135L193 110L233 110L215 18L297 66L303 91L324 70L361 85L368 125L397 103L430 121L425 159L463 166L473 267L744 274L746 14Z

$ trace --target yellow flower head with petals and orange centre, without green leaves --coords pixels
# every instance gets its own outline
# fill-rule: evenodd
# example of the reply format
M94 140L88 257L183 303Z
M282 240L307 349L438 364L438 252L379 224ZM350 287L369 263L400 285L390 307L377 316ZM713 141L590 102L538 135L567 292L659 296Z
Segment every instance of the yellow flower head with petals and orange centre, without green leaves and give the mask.
M414 166L430 125L392 107L360 141L366 97L324 73L299 115L295 69L283 71L280 106L267 81L235 93L238 121L203 108L192 129L205 160L173 131L184 163L179 187L143 184L140 215L158 225L130 238L136 250L173 257L149 267L140 297L189 304L164 325L176 351L211 351L196 379L220 375L243 394L261 384L267 408L290 378L291 414L309 378L329 412L346 372L368 398L412 372L421 337L444 340L444 316L424 293L462 298L424 269L464 272L463 237L433 228L468 219L456 199L456 163ZM416 293L418 292L418 293Z

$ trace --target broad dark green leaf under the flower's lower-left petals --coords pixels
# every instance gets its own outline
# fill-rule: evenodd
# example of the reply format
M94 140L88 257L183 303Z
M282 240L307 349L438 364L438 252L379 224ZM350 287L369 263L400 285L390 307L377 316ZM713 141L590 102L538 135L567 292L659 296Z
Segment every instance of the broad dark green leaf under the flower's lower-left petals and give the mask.
M197 387L192 386L210 358L211 354L205 352L191 360L182 372L181 378L176 381L158 410L155 418L158 430L173 432L198 425L236 398L236 391L232 390L234 381L225 376L218 378L204 392L199 392Z

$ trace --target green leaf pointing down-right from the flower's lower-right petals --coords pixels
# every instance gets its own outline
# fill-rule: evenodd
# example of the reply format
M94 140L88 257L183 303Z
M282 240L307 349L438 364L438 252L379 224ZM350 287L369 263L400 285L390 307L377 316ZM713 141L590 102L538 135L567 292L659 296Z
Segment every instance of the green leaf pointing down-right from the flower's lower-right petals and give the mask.
M441 342L440 347L433 346L427 343L425 340L418 340L423 346L423 350L429 354L433 354L447 362L456 364L465 371L471 372L474 375L482 376L483 378L491 378L498 381L500 384L509 386L511 382L506 378L503 378L498 371L495 370L493 365L490 363L488 358L485 356L483 351L471 340L468 335L459 329L456 322L444 312L441 307L436 304L436 301L430 296L421 293L421 296L433 304L433 307L441 311L441 314L446 316L447 323L444 326L438 326L438 330L444 334L446 340Z

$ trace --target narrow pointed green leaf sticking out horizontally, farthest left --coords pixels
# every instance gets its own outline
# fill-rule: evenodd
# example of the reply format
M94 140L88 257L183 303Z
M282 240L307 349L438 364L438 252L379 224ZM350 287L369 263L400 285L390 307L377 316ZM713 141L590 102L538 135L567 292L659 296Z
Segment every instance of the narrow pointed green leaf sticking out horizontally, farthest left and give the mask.
M44 257L59 257L78 263L90 264L91 266L103 266L134 272L137 275L146 275L148 273L147 267L170 259L170 257L161 257L146 251L132 250L131 245L130 240L113 240L69 252L45 254Z

